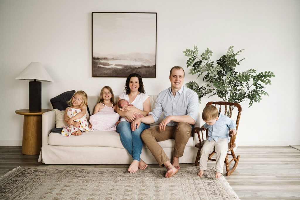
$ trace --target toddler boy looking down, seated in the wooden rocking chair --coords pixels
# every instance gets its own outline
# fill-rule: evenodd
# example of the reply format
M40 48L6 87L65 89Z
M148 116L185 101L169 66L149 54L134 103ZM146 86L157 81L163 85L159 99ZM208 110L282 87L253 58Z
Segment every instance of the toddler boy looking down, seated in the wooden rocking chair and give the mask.
M227 115L222 115L216 106L209 105L203 109L202 119L205 130L208 128L208 138L204 142L200 151L200 171L198 176L202 176L206 170L209 154L216 152L216 178L220 178L223 172L224 160L228 151L229 132L236 133L236 124Z

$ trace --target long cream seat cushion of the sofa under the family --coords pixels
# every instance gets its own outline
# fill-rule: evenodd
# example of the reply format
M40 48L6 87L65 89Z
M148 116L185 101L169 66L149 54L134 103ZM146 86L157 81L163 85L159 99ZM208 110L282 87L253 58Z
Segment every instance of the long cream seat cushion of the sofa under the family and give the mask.
M168 139L158 142L162 148L174 148L174 139ZM48 136L48 144L56 146L101 146L124 148L119 133L113 131L82 132L80 136L63 137L60 133L50 133ZM186 147L193 146L193 137L187 142ZM147 148L143 145L143 148Z

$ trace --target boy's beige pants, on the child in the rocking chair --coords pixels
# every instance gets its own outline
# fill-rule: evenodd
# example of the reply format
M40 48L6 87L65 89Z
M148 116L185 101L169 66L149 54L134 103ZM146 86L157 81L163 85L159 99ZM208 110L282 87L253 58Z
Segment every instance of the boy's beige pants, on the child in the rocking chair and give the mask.
M224 161L228 151L228 140L219 138L218 142L212 139L210 142L206 140L200 151L200 170L206 170L207 159L209 154L214 151L216 152L216 172L223 173Z

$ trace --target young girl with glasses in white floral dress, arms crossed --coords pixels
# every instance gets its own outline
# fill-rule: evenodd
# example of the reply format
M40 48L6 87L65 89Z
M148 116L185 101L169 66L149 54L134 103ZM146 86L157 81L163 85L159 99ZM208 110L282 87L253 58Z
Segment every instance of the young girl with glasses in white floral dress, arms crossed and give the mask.
M86 105L88 104L87 94L79 90L73 94L73 97L67 101L70 107L66 108L64 114L64 120L67 122L61 131L61 135L69 137L70 135L79 136L81 131L89 132L93 131L88 127L88 121L86 119Z

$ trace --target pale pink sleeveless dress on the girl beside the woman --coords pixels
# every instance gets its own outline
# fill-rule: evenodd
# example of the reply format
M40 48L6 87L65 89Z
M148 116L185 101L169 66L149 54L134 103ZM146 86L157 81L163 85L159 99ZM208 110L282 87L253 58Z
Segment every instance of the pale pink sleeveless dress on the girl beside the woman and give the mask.
M116 132L116 122L119 120L120 115L116 113L112 107L108 107L105 104L103 105L104 108L90 117L89 121L92 128L94 130L109 130Z

